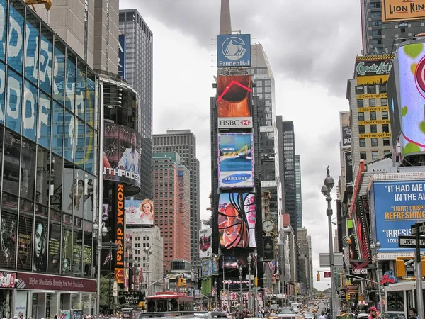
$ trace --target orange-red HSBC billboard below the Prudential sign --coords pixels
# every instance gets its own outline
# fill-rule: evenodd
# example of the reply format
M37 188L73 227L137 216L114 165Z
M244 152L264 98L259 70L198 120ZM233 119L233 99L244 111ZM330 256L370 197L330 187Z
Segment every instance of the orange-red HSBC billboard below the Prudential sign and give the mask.
M250 75L217 77L218 128L252 128Z

